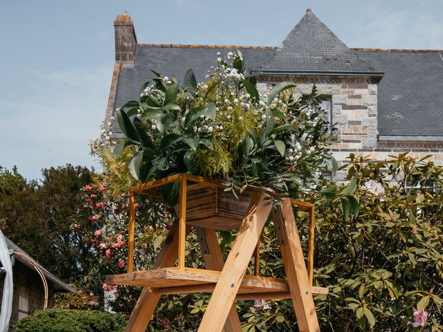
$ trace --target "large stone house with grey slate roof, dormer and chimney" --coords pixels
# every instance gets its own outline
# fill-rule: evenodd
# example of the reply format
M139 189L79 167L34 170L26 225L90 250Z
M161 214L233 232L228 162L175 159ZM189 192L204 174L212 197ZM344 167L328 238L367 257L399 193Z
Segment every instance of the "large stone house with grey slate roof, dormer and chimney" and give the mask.
M202 82L217 53L239 49L257 88L287 80L299 93L318 91L329 96L323 104L336 123L334 157L350 153L384 160L409 151L433 155L443 165L443 50L348 48L310 9L279 47L138 44L128 15L114 21L116 62L105 123L122 137L116 109L138 100L140 86L151 80L151 69L183 79L192 68Z

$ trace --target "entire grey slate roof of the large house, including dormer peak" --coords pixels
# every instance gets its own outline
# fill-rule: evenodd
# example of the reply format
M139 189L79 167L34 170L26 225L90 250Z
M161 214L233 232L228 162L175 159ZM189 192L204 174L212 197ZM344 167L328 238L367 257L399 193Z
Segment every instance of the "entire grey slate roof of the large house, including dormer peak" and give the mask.
M151 69L182 80L192 68L201 82L216 65L217 52L226 55L235 48L254 71L384 73L378 89L379 135L443 136L443 51L347 48L310 10L279 48L138 44L134 67L120 71L114 115L117 107L138 99L141 85L153 77ZM112 131L121 137L116 122Z

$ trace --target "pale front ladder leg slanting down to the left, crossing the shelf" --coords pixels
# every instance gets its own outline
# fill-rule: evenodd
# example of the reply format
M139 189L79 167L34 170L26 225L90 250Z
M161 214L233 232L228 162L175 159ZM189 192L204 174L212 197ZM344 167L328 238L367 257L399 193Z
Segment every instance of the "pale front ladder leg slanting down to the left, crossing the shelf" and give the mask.
M246 268L251 261L255 245L271 211L272 205L266 205L265 198L269 198L269 195L260 192L251 201L248 214L239 229L201 320L199 332L221 332L223 329L229 309L233 305Z

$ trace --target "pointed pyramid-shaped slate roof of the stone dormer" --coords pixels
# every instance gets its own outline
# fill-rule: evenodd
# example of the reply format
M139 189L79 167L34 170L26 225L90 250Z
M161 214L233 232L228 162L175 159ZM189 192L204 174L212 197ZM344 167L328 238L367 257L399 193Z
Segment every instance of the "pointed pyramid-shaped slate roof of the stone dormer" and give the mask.
M372 73L310 9L262 66L271 71Z

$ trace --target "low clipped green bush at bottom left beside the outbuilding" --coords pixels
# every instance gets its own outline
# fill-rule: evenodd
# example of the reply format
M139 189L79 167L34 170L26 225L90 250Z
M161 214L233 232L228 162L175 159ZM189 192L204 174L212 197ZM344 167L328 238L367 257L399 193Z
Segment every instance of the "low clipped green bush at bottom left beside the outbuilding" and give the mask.
M36 311L15 324L15 332L121 332L127 318L120 313L64 310Z

